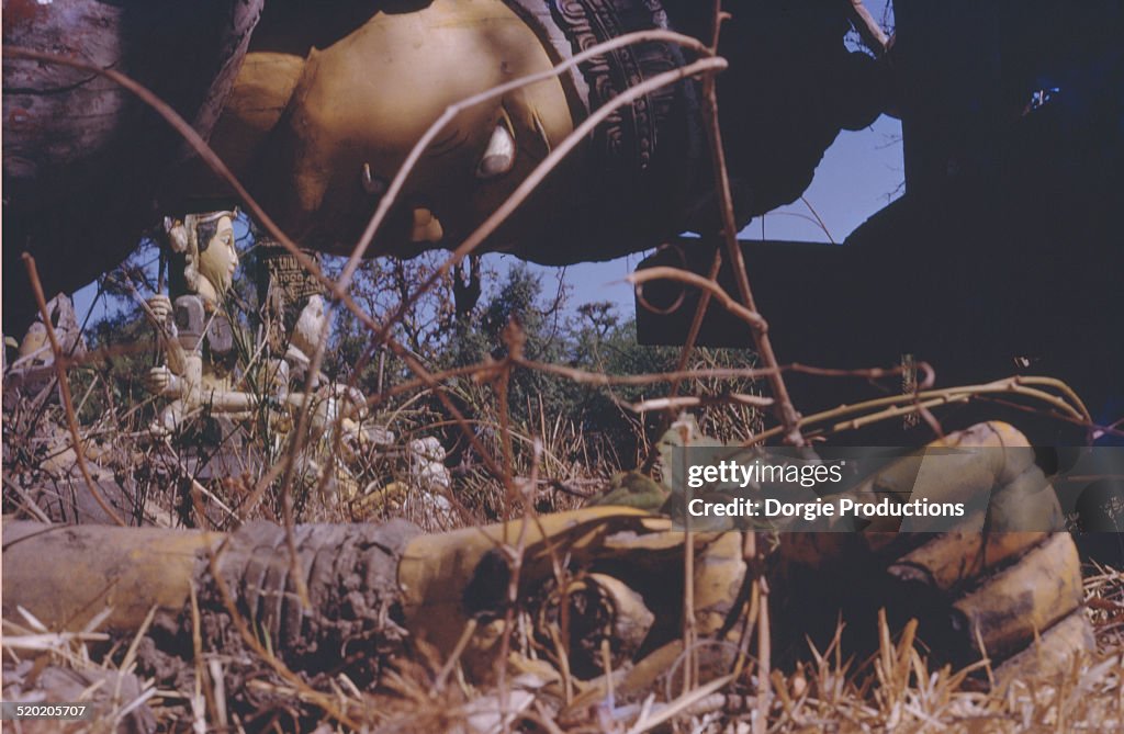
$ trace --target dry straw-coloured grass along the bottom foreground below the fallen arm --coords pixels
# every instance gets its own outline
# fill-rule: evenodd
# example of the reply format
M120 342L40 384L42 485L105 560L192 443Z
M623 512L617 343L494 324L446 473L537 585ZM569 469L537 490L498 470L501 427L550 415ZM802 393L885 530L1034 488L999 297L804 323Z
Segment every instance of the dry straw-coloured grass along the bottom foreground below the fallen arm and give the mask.
M1116 731L1124 726L1124 642L1120 634L1124 573L1099 569L1088 578L1086 591L1098 650L1077 655L1064 674L1019 679L1006 690L981 690L971 674L980 664L960 671L931 669L913 625L894 637L882 619L881 645L867 661L849 658L836 635L825 650L810 649L795 669L773 671L768 731ZM99 715L97 721L67 731L112 731L144 704L164 731L214 731L225 725L238 732L296 727L321 732L487 732L499 731L506 718L514 730L531 732L624 733L671 731L671 726L673 731L715 734L751 731L756 701L752 685L724 676L677 697L668 697L668 686L660 678L650 689L627 699L587 694L584 700L568 706L556 680L516 676L505 696L495 686L477 688L465 682L456 667L448 676L450 671L443 671L444 661L423 649L415 658L397 661L395 672L375 694L360 691L343 674L323 681L323 692L316 697L296 681L252 680L248 686L259 695L290 704L247 717L245 712L227 708L226 701L233 700L236 691L227 689L224 669L230 661L224 655L201 654L190 687L157 689L152 680L133 679L135 651L145 631L118 643L127 645L124 655L118 649L114 655L101 656L91 649L103 646L108 637L99 634L97 626L96 620L83 632L52 633L26 613L21 620L4 620L4 699L36 700L43 692L34 692L31 680L28 694L29 679L45 669L60 668L85 674L83 680L90 683L74 700L94 701ZM52 700L49 692L47 696ZM501 703L505 698L506 708ZM325 705L336 712L337 721L324 718L317 725L316 712L321 710L323 716ZM351 726L338 719L348 721Z

